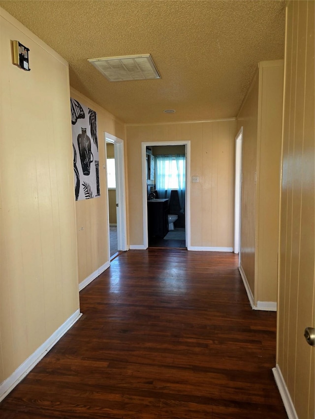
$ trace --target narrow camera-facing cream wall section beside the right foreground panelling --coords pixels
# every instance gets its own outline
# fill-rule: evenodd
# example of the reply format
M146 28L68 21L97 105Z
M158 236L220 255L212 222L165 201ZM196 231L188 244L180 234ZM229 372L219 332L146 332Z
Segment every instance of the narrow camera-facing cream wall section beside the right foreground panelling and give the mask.
M255 303L277 301L283 85L283 60L259 63Z

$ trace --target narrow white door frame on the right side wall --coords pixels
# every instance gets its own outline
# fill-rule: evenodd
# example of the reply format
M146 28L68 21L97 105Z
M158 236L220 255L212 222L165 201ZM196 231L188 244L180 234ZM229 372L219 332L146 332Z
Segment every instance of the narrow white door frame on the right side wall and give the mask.
M239 264L241 263L242 146L243 127L235 137L234 253L239 253Z

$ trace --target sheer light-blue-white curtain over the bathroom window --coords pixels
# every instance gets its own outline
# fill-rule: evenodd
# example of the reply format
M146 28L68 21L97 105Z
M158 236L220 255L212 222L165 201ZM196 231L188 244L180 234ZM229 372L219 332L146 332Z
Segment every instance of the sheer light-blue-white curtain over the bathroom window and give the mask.
M181 212L185 212L186 159L185 155L156 156L156 190L159 198L170 198L171 191L177 190Z

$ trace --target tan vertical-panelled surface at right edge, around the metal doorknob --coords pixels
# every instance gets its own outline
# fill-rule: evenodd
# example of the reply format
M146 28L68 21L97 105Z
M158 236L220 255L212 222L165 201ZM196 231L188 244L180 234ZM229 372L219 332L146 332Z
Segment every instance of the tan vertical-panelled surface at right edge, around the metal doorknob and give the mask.
M277 363L299 419L315 418L314 1L287 4Z

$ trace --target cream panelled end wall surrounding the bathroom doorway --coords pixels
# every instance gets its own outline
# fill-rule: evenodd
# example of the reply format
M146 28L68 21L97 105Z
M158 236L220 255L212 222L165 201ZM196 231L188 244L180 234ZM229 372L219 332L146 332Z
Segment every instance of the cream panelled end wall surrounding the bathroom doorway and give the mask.
M191 246L233 246L235 120L127 125L130 245L143 245L141 142L190 140ZM190 180L189 180L190 181Z

